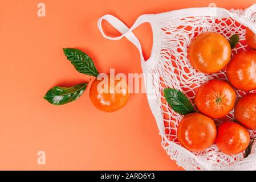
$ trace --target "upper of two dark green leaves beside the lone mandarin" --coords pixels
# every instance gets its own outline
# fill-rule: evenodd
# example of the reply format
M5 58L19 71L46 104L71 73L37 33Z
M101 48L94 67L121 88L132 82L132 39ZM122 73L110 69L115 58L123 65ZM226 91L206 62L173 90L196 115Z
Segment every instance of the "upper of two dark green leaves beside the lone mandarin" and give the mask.
M78 72L95 77L99 75L94 62L86 53L75 48L63 48L63 51Z

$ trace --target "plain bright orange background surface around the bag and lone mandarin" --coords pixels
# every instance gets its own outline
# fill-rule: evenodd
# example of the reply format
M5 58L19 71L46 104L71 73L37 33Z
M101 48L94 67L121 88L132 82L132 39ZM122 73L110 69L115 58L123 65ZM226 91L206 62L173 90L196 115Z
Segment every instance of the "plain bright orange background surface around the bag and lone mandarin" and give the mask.
M46 17L37 16L39 2ZM43 100L52 86L71 86L90 79L75 71L63 47L80 48L100 72L141 73L139 52L126 39L104 39L97 19L113 14L129 27L141 14L186 7L241 9L254 1L184 0L0 0L0 169L180 170L162 149L145 94L132 94L115 113L91 104L88 88L75 102L53 106ZM107 27L107 31L112 29ZM151 30L135 31L145 56ZM46 165L37 152L46 151Z

